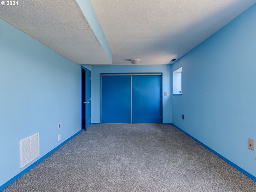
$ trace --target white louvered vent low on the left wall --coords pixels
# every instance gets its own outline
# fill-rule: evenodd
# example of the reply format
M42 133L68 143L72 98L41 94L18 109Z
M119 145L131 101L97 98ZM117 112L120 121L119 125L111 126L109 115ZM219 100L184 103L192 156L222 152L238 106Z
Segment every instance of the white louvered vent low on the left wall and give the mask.
M20 168L39 156L39 133L20 141Z

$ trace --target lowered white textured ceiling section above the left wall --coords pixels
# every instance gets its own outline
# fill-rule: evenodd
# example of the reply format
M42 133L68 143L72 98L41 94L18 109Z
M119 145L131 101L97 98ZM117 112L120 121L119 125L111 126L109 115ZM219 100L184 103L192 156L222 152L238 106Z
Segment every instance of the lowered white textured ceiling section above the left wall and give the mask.
M0 5L0 18L77 64L110 64L76 0L18 3Z

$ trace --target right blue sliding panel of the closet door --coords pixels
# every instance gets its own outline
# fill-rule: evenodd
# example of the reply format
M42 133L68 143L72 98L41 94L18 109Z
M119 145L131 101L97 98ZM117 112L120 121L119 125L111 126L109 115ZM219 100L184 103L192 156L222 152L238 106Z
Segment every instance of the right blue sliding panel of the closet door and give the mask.
M132 76L132 123L161 123L161 76Z

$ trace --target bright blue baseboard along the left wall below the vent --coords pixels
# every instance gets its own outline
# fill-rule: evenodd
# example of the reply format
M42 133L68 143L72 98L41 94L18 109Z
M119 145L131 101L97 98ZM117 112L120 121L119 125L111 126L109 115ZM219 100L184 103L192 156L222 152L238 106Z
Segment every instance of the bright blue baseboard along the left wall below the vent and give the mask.
M64 144L66 144L69 140L71 140L72 138L74 138L77 134L79 134L82 130L79 130L77 133L75 133L74 135L72 135L70 138L68 138L67 140L65 140L64 142L62 142L61 144L59 144L56 148L54 148L53 150L51 150L50 152L48 152L47 154L45 154L44 156L42 156L40 159L38 159L36 162L34 162L33 164L31 164L30 166L28 166L26 169L24 169L22 172L18 173L16 176L14 176L13 178L11 178L10 180L8 180L6 183L4 183L2 186L0 186L0 192L2 190L4 190L4 188L8 187L10 184L12 184L12 182L14 182L15 180L17 180L18 178L20 178L22 175L24 175L26 172L28 172L30 169L32 169L34 166L36 166L37 164L39 164L42 160L44 160L46 157L48 157L50 154L52 154L53 152L55 152L58 148L60 148L61 146L63 146Z

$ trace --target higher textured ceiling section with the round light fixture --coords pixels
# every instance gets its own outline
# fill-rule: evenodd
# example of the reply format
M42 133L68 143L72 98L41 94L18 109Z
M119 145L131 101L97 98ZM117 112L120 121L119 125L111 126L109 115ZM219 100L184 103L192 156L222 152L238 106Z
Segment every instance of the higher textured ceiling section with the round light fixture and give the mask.
M169 64L256 0L90 0L113 64Z

